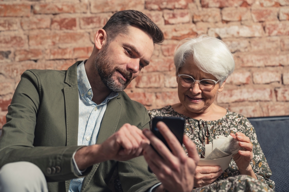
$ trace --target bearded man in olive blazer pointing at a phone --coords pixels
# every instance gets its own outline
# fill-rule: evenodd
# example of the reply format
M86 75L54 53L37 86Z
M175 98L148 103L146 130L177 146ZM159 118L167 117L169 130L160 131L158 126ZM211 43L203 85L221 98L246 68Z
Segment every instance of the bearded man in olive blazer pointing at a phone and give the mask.
M110 191L115 173L124 191L164 190L165 178L160 185L138 157L155 139L141 131L147 110L123 92L163 40L147 16L121 11L97 31L88 60L67 71L25 71L0 138L0 191L45 191L43 174L49 191ZM196 161L188 162L194 172Z

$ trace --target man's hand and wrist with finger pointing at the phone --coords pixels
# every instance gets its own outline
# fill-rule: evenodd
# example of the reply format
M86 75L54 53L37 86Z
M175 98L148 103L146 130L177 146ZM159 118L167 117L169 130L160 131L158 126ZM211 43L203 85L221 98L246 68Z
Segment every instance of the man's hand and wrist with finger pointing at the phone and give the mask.
M79 149L74 156L79 170L107 160L125 161L142 155L142 145L149 140L136 126L124 124L100 145Z

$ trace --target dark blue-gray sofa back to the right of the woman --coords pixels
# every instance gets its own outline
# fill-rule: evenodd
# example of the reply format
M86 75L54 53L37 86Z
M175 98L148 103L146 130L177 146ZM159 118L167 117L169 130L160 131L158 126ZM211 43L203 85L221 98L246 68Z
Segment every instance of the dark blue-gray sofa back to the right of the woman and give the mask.
M289 116L248 118L272 171L275 192L289 191Z

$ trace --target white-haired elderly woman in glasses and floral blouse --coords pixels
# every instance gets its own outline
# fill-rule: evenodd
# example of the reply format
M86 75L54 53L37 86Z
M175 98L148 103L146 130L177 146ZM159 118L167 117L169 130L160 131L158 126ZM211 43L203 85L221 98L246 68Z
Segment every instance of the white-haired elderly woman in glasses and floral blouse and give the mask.
M235 67L234 58L225 43L207 36L185 39L176 48L174 62L180 102L149 111L151 119L155 116L184 117L184 132L197 146L200 157L205 156L205 144L212 143L220 135L231 134L244 148L233 156L226 170L221 170L219 166L197 166L194 187L207 191L206 187L211 189L216 188L212 185L220 185L222 181L218 180L242 174L274 189L275 183L269 179L271 170L251 123L246 117L214 103L217 92L223 91L226 79ZM184 145L183 148L186 150ZM239 185L240 178L235 178L234 185ZM225 187L228 186L225 184L222 189Z

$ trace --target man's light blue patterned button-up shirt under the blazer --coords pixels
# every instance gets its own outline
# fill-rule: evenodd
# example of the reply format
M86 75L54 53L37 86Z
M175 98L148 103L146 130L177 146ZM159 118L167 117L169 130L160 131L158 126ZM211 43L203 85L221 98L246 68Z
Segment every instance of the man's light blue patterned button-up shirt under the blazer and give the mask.
M107 103L112 98L118 96L118 93L111 92L111 94L99 105L92 101L93 93L90 83L88 81L84 62L77 66L77 83L79 93L79 116L78 116L78 139L77 145L94 145L97 141L97 136L103 118ZM97 93L95 93L97 94ZM73 155L74 160L74 155ZM76 174L81 175L81 172L75 164ZM70 180L69 192L79 192L82 187L82 178Z

